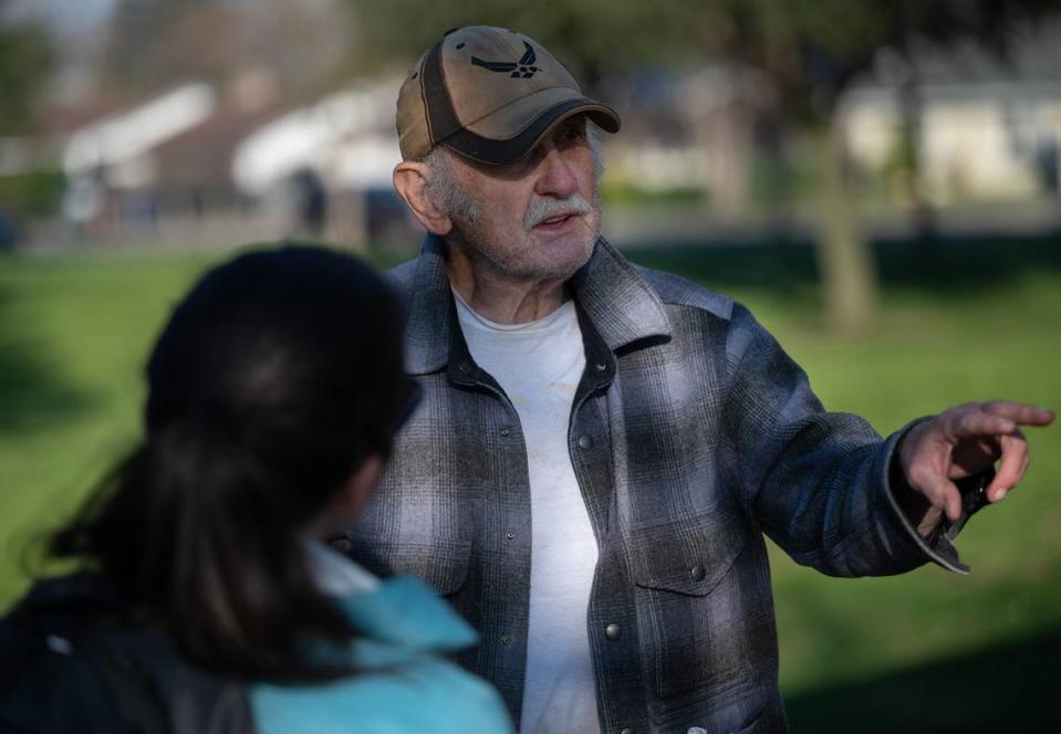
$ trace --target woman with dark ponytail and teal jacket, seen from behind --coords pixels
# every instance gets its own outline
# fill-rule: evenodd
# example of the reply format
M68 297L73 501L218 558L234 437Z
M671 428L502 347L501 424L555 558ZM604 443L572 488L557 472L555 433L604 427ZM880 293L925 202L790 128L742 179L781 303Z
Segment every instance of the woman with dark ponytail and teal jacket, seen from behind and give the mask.
M417 388L383 279L324 250L207 273L147 365L141 445L52 538L84 566L0 623L4 732L509 732L443 657L419 579L321 538L373 491Z

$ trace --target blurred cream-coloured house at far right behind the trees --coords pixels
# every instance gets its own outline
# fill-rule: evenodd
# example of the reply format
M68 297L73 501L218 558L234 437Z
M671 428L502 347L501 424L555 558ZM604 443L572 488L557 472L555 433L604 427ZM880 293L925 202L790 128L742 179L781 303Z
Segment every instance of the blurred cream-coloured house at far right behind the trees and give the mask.
M1058 196L1061 23L1015 39L1006 60L971 43L882 53L841 114L855 162L916 176L934 205Z

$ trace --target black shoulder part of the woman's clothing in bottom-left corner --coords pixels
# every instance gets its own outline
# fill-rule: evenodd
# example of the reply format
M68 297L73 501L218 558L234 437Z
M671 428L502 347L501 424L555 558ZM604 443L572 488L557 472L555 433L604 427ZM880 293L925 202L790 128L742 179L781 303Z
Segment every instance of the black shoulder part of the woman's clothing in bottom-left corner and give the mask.
M254 734L242 681L185 661L102 579L35 587L0 619L0 731Z

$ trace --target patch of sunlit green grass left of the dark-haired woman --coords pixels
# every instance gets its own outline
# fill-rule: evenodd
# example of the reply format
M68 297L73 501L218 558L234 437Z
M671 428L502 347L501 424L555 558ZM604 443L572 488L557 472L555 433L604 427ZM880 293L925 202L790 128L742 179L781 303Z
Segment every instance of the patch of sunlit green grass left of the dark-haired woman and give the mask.
M209 258L0 260L0 602L22 549L62 522L138 430L141 367Z

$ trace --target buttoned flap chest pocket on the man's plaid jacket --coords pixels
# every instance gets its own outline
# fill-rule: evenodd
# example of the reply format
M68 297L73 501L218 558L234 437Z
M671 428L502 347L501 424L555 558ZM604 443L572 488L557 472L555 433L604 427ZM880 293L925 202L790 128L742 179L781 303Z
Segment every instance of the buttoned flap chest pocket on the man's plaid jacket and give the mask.
M776 654L769 568L750 536L726 510L632 535L643 664L657 699L722 694Z

